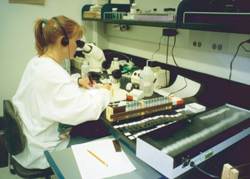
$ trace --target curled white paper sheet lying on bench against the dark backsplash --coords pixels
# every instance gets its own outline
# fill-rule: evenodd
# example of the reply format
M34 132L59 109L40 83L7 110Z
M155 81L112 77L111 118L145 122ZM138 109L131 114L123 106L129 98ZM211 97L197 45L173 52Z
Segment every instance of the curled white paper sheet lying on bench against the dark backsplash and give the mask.
M157 89L155 90L155 92L162 96L168 96L171 93L180 98L187 98L194 96L199 91L201 85L188 78L186 78L186 81L187 81L187 86L184 89L182 89L186 84L185 79L183 76L178 75L173 85L167 88Z

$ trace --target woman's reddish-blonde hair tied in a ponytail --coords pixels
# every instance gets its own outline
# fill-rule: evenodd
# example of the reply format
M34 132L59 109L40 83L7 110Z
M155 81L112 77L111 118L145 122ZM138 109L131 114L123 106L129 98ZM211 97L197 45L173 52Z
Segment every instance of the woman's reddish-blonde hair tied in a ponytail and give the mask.
M85 31L78 23L65 16L57 16L57 19L61 22L69 39L75 35L78 38L82 38ZM35 21L34 32L36 39L35 46L39 56L47 51L48 45L55 44L59 37L65 36L62 28L54 19L37 19Z

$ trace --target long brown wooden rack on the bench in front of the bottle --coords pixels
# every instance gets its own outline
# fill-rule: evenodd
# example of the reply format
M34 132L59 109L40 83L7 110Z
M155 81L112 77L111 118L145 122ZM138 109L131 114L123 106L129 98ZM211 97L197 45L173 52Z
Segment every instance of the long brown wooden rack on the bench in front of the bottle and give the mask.
M172 109L171 98L168 99L167 103L151 107L145 107L144 101L139 102L141 103L141 108L132 111L126 111L126 105L118 107L108 106L106 108L106 119L109 122L116 122Z

